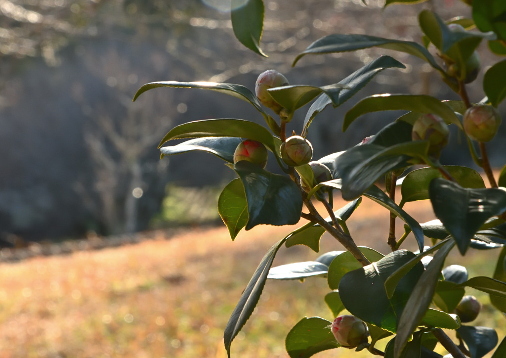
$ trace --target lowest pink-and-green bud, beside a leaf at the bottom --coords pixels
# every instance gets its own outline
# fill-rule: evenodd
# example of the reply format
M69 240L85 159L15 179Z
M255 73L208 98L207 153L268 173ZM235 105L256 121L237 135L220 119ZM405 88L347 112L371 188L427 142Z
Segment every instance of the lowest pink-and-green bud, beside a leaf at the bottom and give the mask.
M355 348L368 341L367 325L350 314L337 317L332 322L331 331L335 340L345 348Z

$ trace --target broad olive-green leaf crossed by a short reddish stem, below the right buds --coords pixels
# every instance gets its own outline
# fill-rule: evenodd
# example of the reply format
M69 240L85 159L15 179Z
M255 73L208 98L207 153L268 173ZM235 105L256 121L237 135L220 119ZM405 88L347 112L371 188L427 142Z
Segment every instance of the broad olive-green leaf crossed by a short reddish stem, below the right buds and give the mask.
M481 175L468 167L444 166L445 169L462 187L465 188L485 188L485 183ZM413 170L406 175L402 181L401 194L404 203L417 200L429 199L429 184L434 178L442 178L443 175L435 168L421 168Z

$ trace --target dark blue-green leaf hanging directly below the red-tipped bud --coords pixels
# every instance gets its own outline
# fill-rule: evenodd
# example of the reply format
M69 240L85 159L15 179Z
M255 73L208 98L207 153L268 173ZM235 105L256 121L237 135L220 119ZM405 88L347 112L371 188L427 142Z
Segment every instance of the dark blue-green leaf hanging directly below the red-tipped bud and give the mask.
M246 230L259 224L293 225L302 213L302 195L290 178L272 174L247 161L234 165L246 193Z

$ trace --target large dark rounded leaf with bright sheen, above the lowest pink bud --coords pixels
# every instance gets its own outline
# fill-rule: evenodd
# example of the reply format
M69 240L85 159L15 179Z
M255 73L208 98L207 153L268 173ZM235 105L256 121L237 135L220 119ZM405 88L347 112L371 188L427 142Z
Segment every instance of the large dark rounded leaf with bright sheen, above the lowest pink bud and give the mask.
M392 299L385 291L385 281L413 257L412 252L398 250L346 273L339 283L339 294L346 309L365 322L395 332L398 317L424 267L420 264L409 271L397 285Z

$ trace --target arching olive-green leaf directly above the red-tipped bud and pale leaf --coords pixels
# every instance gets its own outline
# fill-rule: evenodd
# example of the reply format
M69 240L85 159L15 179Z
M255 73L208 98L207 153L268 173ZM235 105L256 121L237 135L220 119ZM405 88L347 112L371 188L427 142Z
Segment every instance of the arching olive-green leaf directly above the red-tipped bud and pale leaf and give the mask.
M161 140L201 137L240 137L264 143L272 152L277 153L276 140L265 127L250 121L236 119L218 119L188 122L171 129Z

